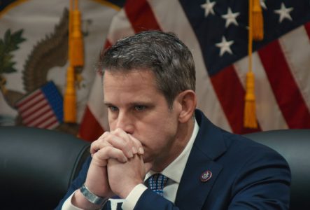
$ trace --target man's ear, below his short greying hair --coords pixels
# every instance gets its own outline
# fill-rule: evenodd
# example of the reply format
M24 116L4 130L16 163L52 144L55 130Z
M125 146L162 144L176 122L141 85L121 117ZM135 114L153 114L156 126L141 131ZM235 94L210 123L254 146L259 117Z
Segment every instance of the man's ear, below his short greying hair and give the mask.
M193 90L185 90L178 94L177 102L181 105L178 121L186 123L190 120L197 106L196 93Z

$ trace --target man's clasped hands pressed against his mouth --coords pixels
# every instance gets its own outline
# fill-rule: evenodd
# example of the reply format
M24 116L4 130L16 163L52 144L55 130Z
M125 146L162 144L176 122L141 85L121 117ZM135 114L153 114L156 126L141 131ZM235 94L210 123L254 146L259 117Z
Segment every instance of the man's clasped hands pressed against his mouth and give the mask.
M151 164L143 162L143 146L120 128L104 134L90 147L92 162L85 186L99 197L127 197L143 183Z

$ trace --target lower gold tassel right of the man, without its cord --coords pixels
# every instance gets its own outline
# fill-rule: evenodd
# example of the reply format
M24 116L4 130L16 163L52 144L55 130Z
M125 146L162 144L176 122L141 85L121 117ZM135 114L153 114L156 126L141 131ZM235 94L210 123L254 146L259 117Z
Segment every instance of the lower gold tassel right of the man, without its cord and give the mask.
M244 107L244 127L248 128L258 127L255 113L254 83L254 73L252 71L248 71L248 73L246 73L246 104Z

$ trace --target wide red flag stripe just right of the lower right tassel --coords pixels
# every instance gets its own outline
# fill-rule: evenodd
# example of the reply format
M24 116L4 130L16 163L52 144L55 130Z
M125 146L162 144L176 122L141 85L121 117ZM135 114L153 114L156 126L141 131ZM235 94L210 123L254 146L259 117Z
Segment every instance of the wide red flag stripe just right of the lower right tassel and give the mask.
M309 110L304 104L304 99L295 83L279 41L269 43L258 53L288 127L310 127Z

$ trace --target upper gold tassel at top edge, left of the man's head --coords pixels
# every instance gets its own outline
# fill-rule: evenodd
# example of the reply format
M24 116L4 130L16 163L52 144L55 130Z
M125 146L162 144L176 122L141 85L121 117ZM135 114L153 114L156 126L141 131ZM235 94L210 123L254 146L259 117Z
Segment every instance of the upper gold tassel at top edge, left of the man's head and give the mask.
M78 10L78 1L75 1L75 9L72 11L71 15L72 25L71 25L71 41L69 41L71 52L71 65L84 66L84 45L83 45L83 34L80 30L80 11Z

